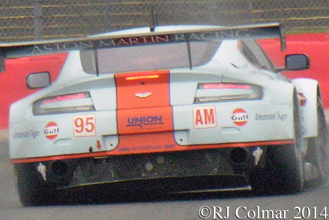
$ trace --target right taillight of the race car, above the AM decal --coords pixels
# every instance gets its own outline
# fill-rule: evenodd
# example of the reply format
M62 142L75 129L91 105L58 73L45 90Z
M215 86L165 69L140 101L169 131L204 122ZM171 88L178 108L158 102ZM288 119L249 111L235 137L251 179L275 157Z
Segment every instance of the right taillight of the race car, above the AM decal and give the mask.
M257 100L261 86L248 83L199 83L194 103Z

